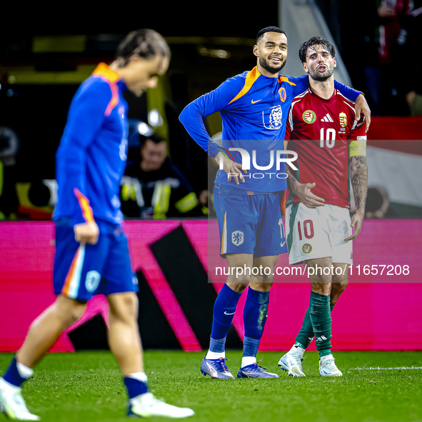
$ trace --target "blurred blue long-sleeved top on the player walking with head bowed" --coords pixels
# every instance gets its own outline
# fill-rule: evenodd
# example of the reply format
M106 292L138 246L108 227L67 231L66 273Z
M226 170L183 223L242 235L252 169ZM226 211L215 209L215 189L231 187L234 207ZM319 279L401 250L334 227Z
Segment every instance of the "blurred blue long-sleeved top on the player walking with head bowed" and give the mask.
M119 74L101 63L72 99L56 152L54 219L71 218L72 225L97 219L121 223L119 189L128 146L125 89Z

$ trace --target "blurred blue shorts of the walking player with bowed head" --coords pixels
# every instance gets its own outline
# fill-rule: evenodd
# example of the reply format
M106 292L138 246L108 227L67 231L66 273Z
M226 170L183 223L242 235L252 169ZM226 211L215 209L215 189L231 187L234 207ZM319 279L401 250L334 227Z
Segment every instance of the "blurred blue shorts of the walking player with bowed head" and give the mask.
M98 222L97 222L98 223ZM75 241L70 218L56 221L54 293L79 301L96 294L138 291L126 236L119 226L99 223L95 245Z

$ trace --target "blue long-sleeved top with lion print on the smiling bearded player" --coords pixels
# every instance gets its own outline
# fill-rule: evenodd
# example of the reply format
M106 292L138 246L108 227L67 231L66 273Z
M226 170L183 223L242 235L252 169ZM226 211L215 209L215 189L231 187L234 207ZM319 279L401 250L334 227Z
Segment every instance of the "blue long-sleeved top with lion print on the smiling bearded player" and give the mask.
M336 89L352 101L358 91L335 82ZM284 149L286 119L292 99L308 88L308 76L272 78L257 67L227 79L217 89L191 102L179 119L192 138L213 157L221 147L213 142L204 126L204 117L220 111L223 121L223 151L236 163L249 167L244 183L228 182L219 170L216 183L257 192L287 189ZM243 151L230 151L243 149ZM245 153L246 151L246 153ZM291 156L290 156L291 158Z

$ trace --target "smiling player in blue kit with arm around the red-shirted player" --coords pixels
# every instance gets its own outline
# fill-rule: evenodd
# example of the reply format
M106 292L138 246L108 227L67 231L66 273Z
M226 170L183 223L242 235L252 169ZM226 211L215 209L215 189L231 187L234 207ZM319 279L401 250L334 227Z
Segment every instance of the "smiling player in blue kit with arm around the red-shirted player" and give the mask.
M213 198L221 256L228 268L239 268L229 273L214 305L210 347L201 363L201 372L211 378L234 378L226 365L225 343L247 286L243 358L237 376L278 378L258 365L256 354L268 316L273 268L278 254L287 252L278 197L278 192L287 189L286 165L277 151L283 150L291 101L308 88L308 77L279 74L286 64L287 37L275 26L258 32L253 54L256 67L191 102L179 117L192 138L220 165ZM363 95L337 81L336 89L356 101L356 116L365 114L368 125L370 111ZM223 120L223 148L212 141L203 121L216 111ZM253 166L245 171L247 161L253 161Z

